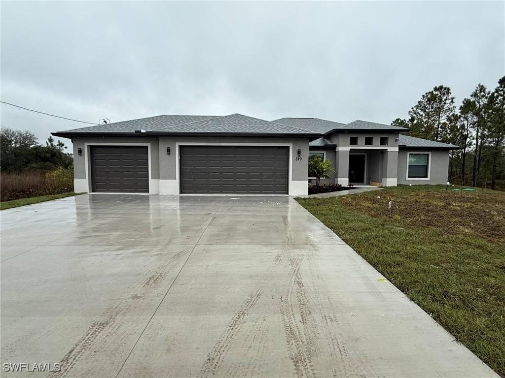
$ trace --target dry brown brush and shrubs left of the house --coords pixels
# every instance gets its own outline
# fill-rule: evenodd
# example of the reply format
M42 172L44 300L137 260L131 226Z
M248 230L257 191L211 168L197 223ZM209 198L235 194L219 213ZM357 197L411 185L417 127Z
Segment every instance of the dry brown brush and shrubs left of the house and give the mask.
M73 170L5 172L0 176L0 200L45 196L74 191Z

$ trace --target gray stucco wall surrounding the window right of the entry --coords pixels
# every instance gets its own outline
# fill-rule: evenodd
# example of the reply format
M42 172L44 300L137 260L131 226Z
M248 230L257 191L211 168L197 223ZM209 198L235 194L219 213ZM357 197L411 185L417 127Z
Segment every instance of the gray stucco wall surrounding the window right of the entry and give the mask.
M430 178L429 179L408 179L407 178L407 154L430 153ZM399 184L445 184L449 171L449 152L436 150L400 150L398 152L398 183Z

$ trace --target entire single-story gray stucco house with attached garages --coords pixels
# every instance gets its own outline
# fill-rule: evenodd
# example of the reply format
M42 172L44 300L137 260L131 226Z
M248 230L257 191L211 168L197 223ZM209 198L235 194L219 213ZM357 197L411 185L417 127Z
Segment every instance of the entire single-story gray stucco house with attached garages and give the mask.
M159 115L52 133L72 139L76 192L308 193L308 158L336 170L329 181L395 186L445 183L449 150L409 129L356 120L267 121L241 114Z

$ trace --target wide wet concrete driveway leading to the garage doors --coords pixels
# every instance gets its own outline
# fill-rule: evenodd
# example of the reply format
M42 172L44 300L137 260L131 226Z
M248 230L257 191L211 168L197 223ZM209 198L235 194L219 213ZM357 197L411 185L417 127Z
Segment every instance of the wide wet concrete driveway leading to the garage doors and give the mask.
M497 376L288 197L82 195L1 217L3 364L58 362L45 375L79 377Z

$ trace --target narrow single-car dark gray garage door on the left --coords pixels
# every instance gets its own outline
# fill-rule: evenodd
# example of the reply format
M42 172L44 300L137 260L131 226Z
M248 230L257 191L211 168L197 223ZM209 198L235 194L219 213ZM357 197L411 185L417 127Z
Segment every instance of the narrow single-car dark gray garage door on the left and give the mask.
M93 192L149 192L147 147L92 146Z

